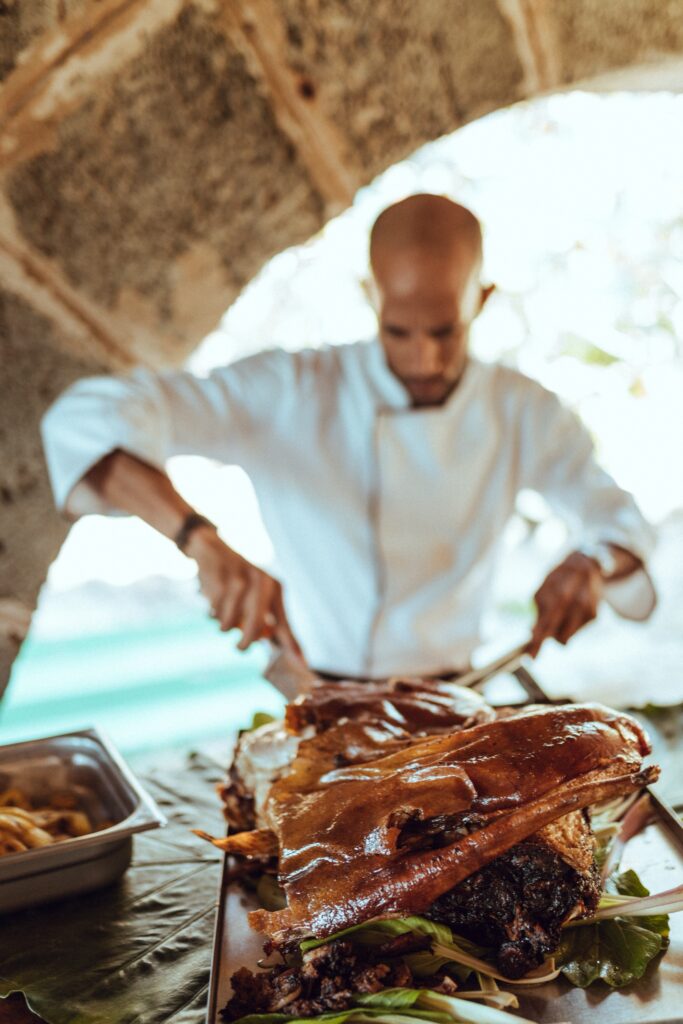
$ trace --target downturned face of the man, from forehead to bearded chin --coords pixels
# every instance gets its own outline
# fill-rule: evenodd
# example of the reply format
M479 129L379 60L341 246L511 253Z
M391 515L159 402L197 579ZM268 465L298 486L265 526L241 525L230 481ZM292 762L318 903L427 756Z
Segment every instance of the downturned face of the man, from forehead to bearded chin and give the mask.
M415 407L440 406L465 369L472 321L486 297L478 260L419 250L375 267L379 334Z

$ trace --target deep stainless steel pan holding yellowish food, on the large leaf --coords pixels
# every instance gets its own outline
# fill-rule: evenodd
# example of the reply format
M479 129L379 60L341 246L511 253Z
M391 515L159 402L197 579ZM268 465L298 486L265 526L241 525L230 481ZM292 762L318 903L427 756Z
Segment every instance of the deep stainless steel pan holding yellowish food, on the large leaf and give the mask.
M0 857L0 913L109 885L130 863L132 836L166 823L96 729L0 746L0 791L10 786L36 802L73 793L99 830Z

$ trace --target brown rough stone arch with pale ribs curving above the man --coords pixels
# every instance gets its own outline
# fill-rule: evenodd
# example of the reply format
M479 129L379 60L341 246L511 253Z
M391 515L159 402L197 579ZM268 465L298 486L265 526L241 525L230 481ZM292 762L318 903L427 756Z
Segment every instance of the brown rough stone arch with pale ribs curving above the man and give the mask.
M70 380L178 364L421 143L681 53L683 0L0 0L0 602L65 531L37 427Z

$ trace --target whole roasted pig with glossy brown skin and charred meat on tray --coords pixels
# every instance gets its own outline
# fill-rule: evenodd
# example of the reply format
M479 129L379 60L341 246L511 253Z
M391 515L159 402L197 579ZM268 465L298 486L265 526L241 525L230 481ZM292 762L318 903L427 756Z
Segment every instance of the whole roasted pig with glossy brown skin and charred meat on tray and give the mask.
M321 686L285 723L243 737L223 790L243 830L217 842L278 858L287 905L250 915L270 949L421 914L492 948L499 971L520 978L556 949L569 918L596 907L587 809L653 781L648 753L634 719L599 705L497 713L454 684ZM301 987L303 968L289 970ZM236 990L252 984L245 975Z

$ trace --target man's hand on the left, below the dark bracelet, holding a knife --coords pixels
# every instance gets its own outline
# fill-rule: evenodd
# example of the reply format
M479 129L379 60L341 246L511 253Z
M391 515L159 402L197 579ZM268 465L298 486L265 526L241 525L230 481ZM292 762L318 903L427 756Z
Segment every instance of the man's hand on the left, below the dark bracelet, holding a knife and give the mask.
M228 548L210 527L194 530L184 550L199 566L202 593L209 599L211 613L221 630L242 630L240 650L246 650L255 640L272 637L301 655L276 580Z

